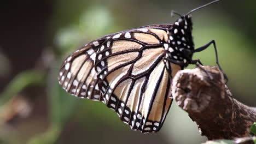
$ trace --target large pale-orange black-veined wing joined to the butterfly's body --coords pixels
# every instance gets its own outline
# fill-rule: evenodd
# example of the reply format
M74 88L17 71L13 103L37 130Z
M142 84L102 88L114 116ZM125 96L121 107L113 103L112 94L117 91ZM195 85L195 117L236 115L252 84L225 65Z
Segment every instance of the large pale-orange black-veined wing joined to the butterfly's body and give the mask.
M167 28L153 25L116 33L96 55L104 103L142 133L160 130L172 103L168 73L181 69L171 63L166 63L169 71L165 67Z

